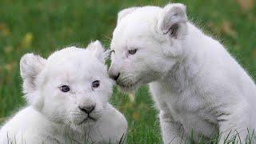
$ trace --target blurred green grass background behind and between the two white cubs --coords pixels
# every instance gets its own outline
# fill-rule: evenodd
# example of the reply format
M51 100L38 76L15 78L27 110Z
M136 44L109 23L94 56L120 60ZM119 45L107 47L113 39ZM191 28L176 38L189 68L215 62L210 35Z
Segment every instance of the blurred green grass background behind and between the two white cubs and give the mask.
M22 54L34 52L46 58L59 48L86 46L95 39L108 47L119 10L168 2L186 4L190 21L221 41L256 78L254 0L0 0L0 122L26 105L19 75ZM136 92L134 102L114 88L111 102L129 122L128 143L162 142L147 86Z

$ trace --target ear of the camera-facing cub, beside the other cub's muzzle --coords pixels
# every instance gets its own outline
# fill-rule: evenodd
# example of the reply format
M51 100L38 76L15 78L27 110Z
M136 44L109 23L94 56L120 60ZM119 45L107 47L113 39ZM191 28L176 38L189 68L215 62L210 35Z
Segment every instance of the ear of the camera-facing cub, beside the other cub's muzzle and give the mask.
M102 46L102 43L98 40L95 42L90 42L87 46L87 49L90 50L96 58L102 63L105 63L106 58L110 57L112 50L106 50Z

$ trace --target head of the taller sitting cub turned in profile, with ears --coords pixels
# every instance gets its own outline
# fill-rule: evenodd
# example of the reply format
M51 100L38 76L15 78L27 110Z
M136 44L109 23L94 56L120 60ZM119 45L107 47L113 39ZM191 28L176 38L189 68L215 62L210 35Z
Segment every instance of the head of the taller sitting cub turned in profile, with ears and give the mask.
M187 34L186 6L132 7L118 13L110 77L122 90L164 78L182 57Z

